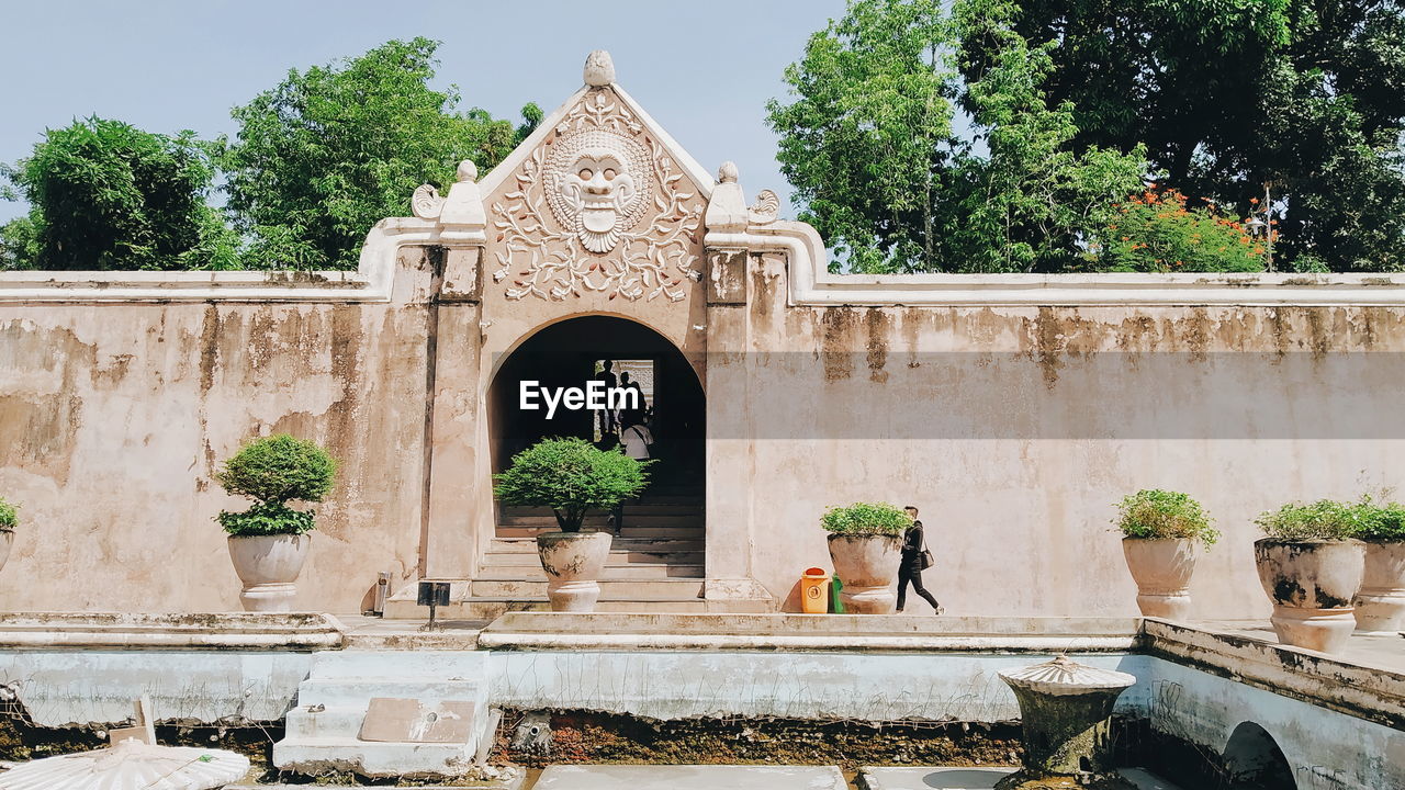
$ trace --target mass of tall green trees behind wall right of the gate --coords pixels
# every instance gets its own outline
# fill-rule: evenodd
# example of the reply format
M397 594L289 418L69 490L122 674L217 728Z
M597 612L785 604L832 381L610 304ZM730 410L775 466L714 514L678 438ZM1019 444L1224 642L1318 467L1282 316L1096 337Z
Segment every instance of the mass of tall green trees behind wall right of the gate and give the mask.
M851 0L769 107L802 216L850 268L1262 268L1234 219L1266 183L1280 263L1405 267L1402 0L944 6ZM1155 243L1110 211L1142 180ZM1123 236L1165 249L1166 222L1250 254L1186 232L1193 261L1109 260Z

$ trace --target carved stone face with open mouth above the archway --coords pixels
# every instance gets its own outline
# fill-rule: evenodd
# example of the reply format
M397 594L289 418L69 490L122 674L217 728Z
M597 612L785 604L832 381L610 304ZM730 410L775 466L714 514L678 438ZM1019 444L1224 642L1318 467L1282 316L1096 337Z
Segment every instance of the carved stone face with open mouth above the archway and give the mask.
M547 200L556 221L590 252L607 253L648 208L643 146L606 129L563 136L547 160Z

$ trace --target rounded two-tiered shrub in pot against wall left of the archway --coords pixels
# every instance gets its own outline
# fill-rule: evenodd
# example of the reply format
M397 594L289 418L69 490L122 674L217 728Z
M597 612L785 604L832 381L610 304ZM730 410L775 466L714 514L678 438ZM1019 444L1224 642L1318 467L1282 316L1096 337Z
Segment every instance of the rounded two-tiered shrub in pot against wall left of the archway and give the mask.
M332 491L337 461L311 441L277 434L244 444L215 475L229 493L247 496L247 510L222 510L215 520L229 533L229 558L244 583L247 611L288 611L298 574L316 527L312 510L288 502L322 502Z

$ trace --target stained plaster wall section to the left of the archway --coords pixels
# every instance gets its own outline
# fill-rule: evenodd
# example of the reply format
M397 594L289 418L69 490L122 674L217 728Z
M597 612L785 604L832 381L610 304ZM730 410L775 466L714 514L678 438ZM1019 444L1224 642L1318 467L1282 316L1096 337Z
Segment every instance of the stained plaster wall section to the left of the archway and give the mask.
M389 304L0 305L0 493L21 506L10 610L239 609L214 482L288 432L341 461L296 606L358 611L416 575L426 419L422 249Z

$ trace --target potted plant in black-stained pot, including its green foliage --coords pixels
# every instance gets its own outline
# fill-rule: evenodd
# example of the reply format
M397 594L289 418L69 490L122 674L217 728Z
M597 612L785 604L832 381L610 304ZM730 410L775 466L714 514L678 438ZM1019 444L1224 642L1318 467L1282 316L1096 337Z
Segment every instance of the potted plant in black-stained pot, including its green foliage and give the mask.
M1366 545L1356 540L1360 522L1359 506L1328 499L1284 505L1255 520L1267 536L1255 541L1253 558L1279 641L1321 652L1346 645L1366 561Z

